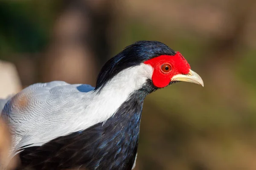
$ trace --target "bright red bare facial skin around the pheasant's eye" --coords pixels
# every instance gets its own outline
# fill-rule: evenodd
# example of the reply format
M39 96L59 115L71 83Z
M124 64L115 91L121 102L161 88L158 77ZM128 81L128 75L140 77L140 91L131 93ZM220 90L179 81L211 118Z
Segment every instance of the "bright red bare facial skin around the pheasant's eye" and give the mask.
M145 64L151 65L154 69L152 75L152 82L154 86L158 88L164 88L171 82L173 76L177 74L188 74L190 65L186 59L176 52L174 56L161 55L153 59L149 59L144 62ZM169 64L172 67L172 70L168 73L161 71L162 65Z

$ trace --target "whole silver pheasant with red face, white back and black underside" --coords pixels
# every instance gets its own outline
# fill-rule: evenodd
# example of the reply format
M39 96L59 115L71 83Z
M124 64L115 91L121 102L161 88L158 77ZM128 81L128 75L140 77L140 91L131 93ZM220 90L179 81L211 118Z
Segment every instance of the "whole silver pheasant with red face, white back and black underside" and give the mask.
M12 133L10 158L20 153L20 169L131 170L145 96L179 81L203 85L180 53L140 41L103 66L96 88L61 81L30 85L1 114Z

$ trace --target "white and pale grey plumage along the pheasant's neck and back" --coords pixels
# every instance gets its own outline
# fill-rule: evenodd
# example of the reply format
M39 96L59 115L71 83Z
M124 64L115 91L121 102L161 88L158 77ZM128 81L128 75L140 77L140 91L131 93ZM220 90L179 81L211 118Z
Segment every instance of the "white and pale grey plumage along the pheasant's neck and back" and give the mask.
M20 147L41 146L59 136L109 119L129 95L151 79L144 63L127 68L97 93L90 85L54 81L30 85L7 102L2 117L12 127L15 156Z

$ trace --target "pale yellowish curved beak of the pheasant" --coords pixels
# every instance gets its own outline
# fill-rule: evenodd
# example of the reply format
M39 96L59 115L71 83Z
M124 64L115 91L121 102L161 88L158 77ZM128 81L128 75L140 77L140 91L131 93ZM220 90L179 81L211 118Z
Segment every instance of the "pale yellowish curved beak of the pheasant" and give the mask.
M194 71L189 69L189 74L177 74L172 77L171 81L180 81L180 82L192 82L204 87L204 82L201 77Z

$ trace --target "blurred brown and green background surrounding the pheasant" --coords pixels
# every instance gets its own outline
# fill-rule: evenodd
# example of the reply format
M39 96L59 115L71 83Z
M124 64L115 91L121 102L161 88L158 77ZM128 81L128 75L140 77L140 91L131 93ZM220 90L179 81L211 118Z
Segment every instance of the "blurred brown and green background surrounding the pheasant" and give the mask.
M136 170L256 170L255 0L1 0L0 96L36 82L95 85L137 40L204 80L145 99ZM8 91L9 89L9 91Z

